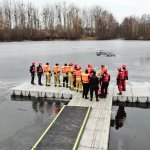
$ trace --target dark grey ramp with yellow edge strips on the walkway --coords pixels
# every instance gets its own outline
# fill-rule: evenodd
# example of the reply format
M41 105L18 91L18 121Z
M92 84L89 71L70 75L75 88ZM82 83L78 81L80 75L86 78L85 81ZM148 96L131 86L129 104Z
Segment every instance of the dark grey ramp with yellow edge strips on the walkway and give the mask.
M76 150L90 110L64 106L31 150Z

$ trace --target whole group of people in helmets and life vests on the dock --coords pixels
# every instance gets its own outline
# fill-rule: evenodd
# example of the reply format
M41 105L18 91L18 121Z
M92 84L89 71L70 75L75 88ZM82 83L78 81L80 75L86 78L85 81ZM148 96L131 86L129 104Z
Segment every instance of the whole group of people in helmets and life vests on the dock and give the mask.
M49 63L42 66L39 63L37 68L35 62L32 62L30 66L31 84L34 83L35 73L37 72L38 84L43 85L41 82L42 75L45 73L46 86L51 85L51 77L54 76L54 85L61 87L60 75L63 75L63 87L69 87L71 90L82 92L82 97L88 99L88 93L90 91L90 100L93 100L93 92L95 92L96 101L98 97L106 98L108 94L108 85L110 82L110 75L108 74L108 67L102 65L100 72L96 74L95 69L91 64L87 65L85 72L82 72L81 66L70 62L68 65L65 63L62 67L59 64L55 64L52 68ZM119 95L123 90L126 90L126 80L128 79L128 71L126 66L123 65L122 69L118 68L117 85L119 89Z

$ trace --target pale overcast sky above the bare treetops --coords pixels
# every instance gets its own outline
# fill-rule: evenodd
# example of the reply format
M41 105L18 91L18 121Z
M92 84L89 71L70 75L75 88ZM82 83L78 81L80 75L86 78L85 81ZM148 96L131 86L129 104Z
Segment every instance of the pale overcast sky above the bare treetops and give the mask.
M1 1L1 0L0 0ZM90 7L100 5L102 8L112 12L116 19L121 22L125 16L150 14L150 0L23 0L31 1L37 7L48 3L64 2L74 3L79 7Z

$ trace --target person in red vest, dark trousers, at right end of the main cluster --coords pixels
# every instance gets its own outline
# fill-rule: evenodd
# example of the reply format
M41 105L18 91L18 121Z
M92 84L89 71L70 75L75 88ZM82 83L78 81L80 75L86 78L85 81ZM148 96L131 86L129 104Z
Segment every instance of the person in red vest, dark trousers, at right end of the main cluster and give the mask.
M102 98L106 98L109 82L110 82L110 75L107 73L107 69L104 69L103 75L100 78Z

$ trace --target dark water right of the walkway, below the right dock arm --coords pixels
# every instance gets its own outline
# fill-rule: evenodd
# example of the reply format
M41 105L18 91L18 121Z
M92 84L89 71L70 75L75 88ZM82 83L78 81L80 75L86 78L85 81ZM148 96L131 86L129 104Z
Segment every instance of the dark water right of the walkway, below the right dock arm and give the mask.
M149 150L150 109L125 107L125 112L126 118L111 127L109 150Z

